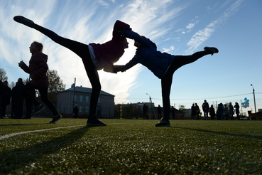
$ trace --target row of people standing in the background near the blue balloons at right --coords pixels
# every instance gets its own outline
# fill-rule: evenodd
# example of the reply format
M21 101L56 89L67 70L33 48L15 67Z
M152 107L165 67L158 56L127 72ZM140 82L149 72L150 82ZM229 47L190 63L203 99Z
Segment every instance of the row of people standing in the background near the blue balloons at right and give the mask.
M234 120L233 115L235 113L236 113L237 120L240 120L238 102L235 102L234 106L232 105L231 102L229 102L229 104L224 104L224 105L223 103L219 103L216 110L214 109L213 105L209 107L207 100L204 100L202 104L202 110L204 113L204 120L208 120L208 115L210 115L211 120L214 120L216 116L217 116L217 120ZM192 120L200 119L200 107L197 105L197 103L192 104L191 115L192 115Z

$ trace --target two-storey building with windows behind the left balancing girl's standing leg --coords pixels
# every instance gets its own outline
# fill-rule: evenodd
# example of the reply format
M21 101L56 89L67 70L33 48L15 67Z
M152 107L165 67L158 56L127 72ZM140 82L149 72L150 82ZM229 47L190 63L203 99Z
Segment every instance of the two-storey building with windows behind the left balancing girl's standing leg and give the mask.
M72 117L72 109L77 105L80 118L89 115L92 88L84 88L73 84L70 89L58 92L57 109L63 117ZM74 98L74 101L73 101ZM97 103L97 117L114 118L114 95L101 90Z

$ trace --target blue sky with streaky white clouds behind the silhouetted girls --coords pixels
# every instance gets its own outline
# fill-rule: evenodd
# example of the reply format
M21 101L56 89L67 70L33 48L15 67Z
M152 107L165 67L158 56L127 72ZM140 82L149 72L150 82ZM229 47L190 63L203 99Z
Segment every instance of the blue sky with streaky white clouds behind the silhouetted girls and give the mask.
M262 109L260 0L155 0L155 1L70 1L70 0L0 0L0 67L9 83L28 75L18 68L20 60L31 58L33 41L44 45L51 70L58 70L66 88L74 83L90 88L82 60L42 33L16 23L13 16L25 16L60 36L82 43L104 43L111 39L114 22L129 23L133 31L151 38L158 51L188 55L215 46L218 54L207 55L177 70L173 76L171 104L190 108L193 102L209 105L250 100L253 87L256 110ZM116 64L125 64L136 48L129 48ZM116 103L148 102L162 106L160 80L142 65L124 73L99 71L102 90L115 96ZM148 94L148 95L147 95Z

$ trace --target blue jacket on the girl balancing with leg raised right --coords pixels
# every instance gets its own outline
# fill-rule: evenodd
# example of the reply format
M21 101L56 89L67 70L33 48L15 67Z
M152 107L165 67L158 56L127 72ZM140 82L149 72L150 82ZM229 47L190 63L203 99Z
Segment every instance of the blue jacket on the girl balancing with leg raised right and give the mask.
M133 65L141 63L151 70L155 76L161 79L168 70L169 65L173 62L175 55L156 51L152 41L148 38L139 36L138 33L133 31L123 30L121 34L141 44L141 46L136 49L136 55L133 56L129 63L126 63L126 65L122 67L122 70L127 70L133 67Z

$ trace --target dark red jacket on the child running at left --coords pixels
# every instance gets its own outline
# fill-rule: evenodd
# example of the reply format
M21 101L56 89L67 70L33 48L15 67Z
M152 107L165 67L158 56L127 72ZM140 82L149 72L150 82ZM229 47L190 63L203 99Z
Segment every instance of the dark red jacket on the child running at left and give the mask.
M21 68L30 74L30 83L36 89L48 89L48 55L36 51L32 53L32 57L29 60L29 67L26 64L21 65Z

